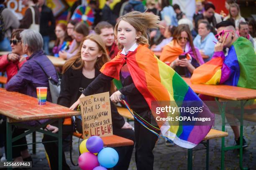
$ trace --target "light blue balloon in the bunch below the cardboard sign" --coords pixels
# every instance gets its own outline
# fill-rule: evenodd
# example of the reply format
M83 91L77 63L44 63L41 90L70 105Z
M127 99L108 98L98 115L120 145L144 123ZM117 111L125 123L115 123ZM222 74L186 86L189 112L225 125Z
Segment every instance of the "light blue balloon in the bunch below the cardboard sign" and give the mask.
M98 161L106 168L114 167L118 162L118 152L111 147L105 147L98 153Z

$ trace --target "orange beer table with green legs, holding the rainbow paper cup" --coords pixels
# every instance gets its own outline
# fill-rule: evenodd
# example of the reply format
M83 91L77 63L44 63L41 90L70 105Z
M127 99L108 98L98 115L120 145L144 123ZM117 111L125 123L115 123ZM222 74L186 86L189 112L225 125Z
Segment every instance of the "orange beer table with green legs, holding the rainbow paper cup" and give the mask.
M6 91L0 88L0 114L7 117L6 121L6 142L7 142L7 161L12 160L12 142L25 137L33 132L41 132L43 134L51 135L58 138L59 142L59 170L62 170L62 119L63 117L71 117L80 115L80 112L69 110L67 107L46 102L45 105L38 105L36 98L20 94L18 92ZM33 121L40 119L49 119L47 122L37 125L36 127L30 126L23 121ZM44 128L47 124L58 121L58 134L46 131ZM28 129L23 134L12 138L12 125ZM51 141L56 142L56 141ZM39 142L41 143L41 142ZM35 144L35 143L31 143ZM31 145L27 144L27 145ZM16 145L20 146L20 145ZM9 168L11 169L11 168Z

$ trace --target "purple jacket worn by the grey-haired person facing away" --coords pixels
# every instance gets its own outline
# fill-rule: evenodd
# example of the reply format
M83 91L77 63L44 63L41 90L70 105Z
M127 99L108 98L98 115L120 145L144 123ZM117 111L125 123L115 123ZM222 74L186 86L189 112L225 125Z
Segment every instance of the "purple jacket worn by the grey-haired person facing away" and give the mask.
M6 90L18 91L37 98L36 87L48 87L46 100L51 101L48 77L44 74L44 71L38 63L41 64L46 73L51 76L54 81L58 82L54 65L49 58L44 55L44 51L42 50L33 53L27 60L28 61L24 63L18 71L18 74L13 76L13 78L6 84ZM36 61L38 63L36 63Z

